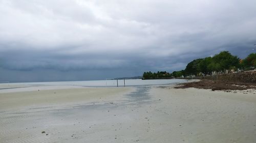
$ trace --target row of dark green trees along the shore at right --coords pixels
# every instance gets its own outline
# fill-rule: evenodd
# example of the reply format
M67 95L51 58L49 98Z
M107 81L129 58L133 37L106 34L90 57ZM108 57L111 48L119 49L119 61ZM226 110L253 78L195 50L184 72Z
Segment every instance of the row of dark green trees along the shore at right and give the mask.
M226 72L240 72L256 68L256 53L251 53L244 60L232 55L229 51L222 51L212 57L196 59L189 62L185 70L167 72L144 72L143 79L162 79L172 77L190 77L212 75Z

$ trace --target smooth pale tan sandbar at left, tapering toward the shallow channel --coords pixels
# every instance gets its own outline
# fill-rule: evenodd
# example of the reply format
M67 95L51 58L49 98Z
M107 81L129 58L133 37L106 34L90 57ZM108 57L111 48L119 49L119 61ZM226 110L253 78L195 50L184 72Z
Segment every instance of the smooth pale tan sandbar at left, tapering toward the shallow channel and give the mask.
M50 89L53 87L50 87ZM26 109L33 107L48 107L60 105L73 105L90 101L105 101L118 99L127 93L129 88L71 88L49 90L42 88L8 89L0 92L0 110ZM40 90L37 90L40 89ZM14 92L10 92L10 91ZM16 90L16 91L15 91ZM22 91L22 92L20 92ZM6 92L6 93L5 93Z

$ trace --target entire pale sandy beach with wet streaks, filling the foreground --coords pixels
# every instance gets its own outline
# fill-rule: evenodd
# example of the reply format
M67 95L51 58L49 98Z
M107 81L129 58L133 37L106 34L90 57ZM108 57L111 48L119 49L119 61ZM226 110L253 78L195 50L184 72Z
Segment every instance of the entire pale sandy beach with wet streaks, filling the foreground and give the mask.
M255 91L2 90L0 142L255 142Z

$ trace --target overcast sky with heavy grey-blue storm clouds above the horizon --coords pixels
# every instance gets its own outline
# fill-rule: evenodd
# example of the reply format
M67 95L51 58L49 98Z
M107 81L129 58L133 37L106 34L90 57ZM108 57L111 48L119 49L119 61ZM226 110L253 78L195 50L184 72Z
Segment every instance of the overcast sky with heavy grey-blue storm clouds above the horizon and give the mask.
M253 44L254 0L0 0L0 81L173 72Z

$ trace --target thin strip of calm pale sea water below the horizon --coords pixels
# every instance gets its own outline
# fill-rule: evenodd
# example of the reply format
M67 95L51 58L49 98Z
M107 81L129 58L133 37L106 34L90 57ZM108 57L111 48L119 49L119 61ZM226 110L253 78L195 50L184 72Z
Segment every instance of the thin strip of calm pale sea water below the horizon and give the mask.
M185 79L125 79L125 86L138 85L162 85L186 82ZM83 87L116 87L117 80L89 80L89 81L55 81L55 82L22 82L22 83L2 83L2 84L23 84L23 85L77 85ZM118 80L118 86L123 87L124 81Z

